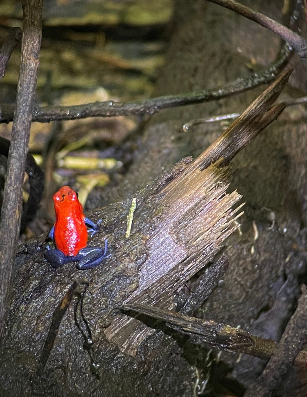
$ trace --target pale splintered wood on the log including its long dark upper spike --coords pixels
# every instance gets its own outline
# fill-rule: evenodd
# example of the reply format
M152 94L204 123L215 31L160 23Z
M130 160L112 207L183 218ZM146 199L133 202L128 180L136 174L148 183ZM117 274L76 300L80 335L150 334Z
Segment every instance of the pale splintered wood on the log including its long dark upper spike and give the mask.
M176 308L185 283L214 258L224 240L237 229L235 220L243 214L239 211L243 204L237 205L241 199L237 191L226 193L229 171L223 165L282 112L283 103L271 106L290 73L285 71L220 138L166 186L157 189L153 214L156 226L148 236L148 256L139 271L138 288L124 304ZM153 331L137 318L119 313L104 332L121 351L135 355Z

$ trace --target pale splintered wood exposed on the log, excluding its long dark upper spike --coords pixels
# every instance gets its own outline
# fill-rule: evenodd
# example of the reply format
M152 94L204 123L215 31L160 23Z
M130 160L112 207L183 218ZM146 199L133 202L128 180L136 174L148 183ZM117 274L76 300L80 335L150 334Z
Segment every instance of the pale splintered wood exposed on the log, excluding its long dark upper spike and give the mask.
M237 191L226 193L227 168L218 163L205 170L183 172L159 193L163 213L148 239L148 259L140 270L138 289L125 303L174 308L176 295L191 276L220 250L238 227L243 204ZM119 315L105 331L122 351L135 354L152 330L135 318Z

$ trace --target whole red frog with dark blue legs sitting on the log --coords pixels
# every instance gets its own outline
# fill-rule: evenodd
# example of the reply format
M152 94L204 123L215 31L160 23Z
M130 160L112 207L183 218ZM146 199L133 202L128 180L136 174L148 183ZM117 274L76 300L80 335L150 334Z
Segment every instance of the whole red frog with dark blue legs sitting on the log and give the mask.
M55 241L56 249L47 246L45 258L54 268L68 262L78 262L78 269L90 269L98 266L106 255L108 240L104 248L86 247L87 233L91 237L99 231L99 222L94 224L83 214L78 195L69 186L63 186L53 195L56 221L49 237ZM88 225L90 229L87 229Z

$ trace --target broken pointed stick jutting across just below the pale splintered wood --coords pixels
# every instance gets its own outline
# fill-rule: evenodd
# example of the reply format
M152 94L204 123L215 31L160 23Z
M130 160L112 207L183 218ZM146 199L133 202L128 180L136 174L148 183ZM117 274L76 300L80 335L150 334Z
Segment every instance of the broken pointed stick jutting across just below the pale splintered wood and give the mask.
M124 304L121 310L132 310L165 321L167 326L196 337L197 342L210 343L220 350L236 351L268 360L277 346L277 343L271 339L251 335L240 328L233 328L213 320L186 316L172 310L138 303ZM295 360L295 365L304 365L306 358L307 352L301 351Z

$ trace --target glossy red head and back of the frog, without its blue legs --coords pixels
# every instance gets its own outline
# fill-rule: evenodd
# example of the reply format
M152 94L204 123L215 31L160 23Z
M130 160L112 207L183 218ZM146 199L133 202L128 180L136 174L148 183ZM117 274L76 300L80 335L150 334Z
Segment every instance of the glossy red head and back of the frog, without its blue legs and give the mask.
M69 186L63 186L53 195L56 221L54 240L57 248L66 256L76 256L87 245L85 215L77 194Z

